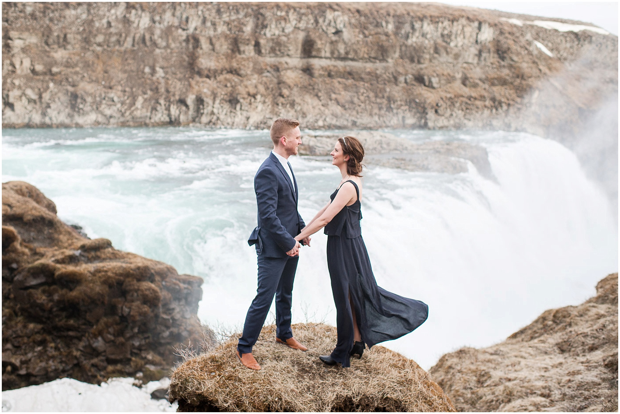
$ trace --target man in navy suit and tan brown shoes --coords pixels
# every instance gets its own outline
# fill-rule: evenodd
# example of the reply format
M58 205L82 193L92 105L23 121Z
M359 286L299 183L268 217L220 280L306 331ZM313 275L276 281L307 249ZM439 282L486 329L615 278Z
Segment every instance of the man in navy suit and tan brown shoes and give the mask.
M304 224L297 211L297 181L288 157L297 154L301 144L299 122L285 118L273 121L270 130L273 151L254 177L259 209L259 225L252 231L249 245L255 245L259 265L259 287L247 311L243 335L237 345L237 358L247 368L260 369L252 355L273 296L275 295L276 341L294 350L307 351L291 331L293 280L299 260L299 242L293 239ZM302 240L309 245L310 238Z

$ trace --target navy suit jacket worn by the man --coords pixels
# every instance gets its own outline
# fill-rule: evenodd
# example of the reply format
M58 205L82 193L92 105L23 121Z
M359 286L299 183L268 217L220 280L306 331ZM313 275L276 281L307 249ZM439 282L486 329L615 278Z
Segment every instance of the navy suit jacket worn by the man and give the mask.
M293 192L294 189L294 192ZM287 257L295 247L297 236L306 224L297 211L297 180L286 174L272 153L254 176L254 192L259 208L259 225L252 231L248 244L265 257Z

